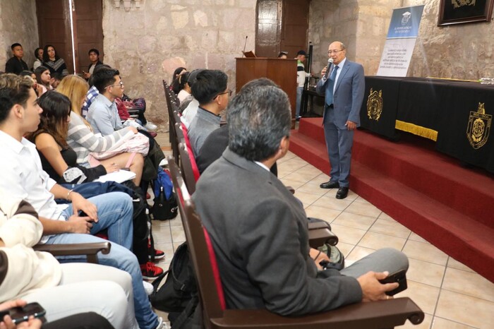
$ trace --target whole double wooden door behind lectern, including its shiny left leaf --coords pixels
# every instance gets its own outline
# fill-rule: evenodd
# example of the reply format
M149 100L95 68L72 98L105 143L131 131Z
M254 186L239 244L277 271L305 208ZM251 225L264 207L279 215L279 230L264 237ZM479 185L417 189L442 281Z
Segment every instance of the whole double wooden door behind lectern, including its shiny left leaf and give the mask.
M294 58L300 49L308 51L310 0L258 0L255 54L276 57L288 52Z

